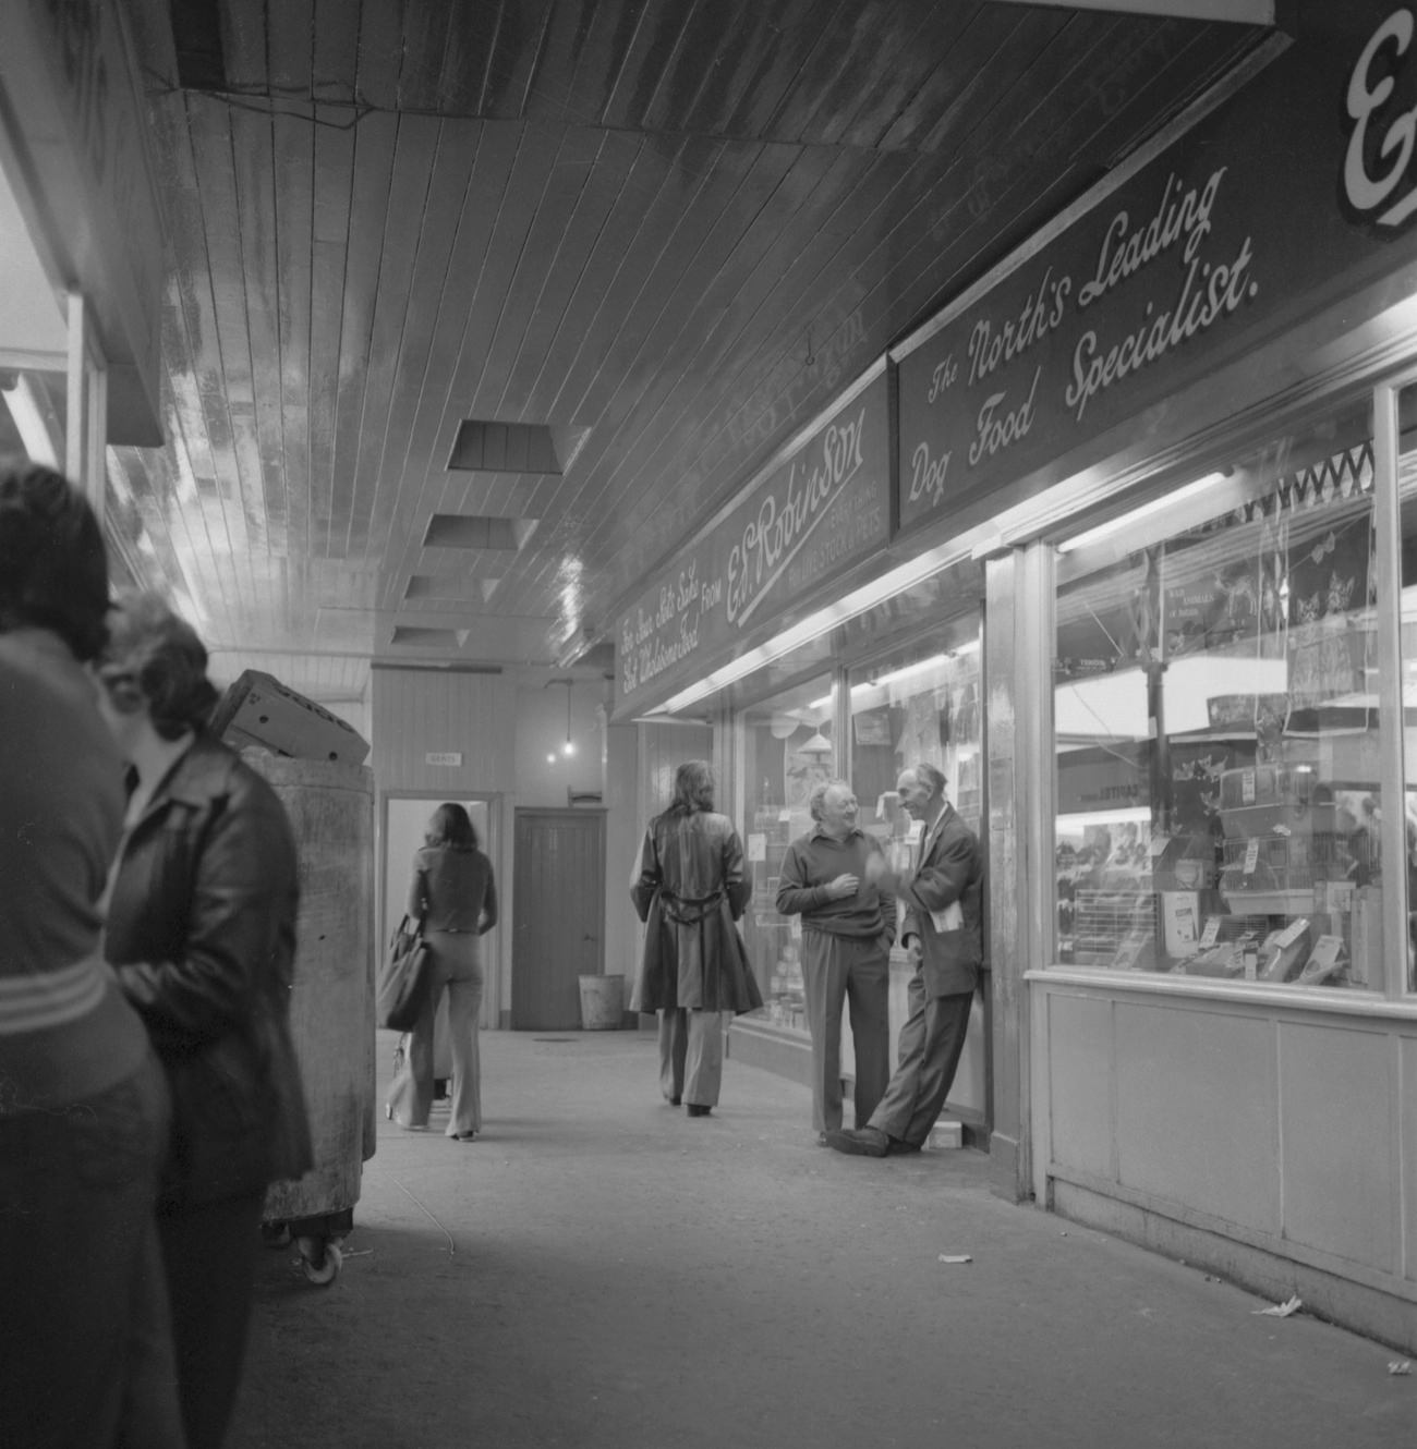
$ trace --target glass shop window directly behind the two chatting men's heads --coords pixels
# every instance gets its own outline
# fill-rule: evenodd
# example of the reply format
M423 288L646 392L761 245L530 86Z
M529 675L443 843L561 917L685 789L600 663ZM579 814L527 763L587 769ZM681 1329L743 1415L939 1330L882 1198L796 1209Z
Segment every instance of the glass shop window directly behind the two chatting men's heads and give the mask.
M862 829L879 836L899 871L908 871L918 824L901 809L895 782L915 764L944 772L946 797L980 830L979 614L956 619L928 639L853 669L851 787Z

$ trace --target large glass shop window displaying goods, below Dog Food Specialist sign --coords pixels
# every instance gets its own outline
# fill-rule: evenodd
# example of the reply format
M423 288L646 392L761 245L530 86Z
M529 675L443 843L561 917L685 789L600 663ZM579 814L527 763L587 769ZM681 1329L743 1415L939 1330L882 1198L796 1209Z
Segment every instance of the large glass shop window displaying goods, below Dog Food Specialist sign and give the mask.
M1062 546L1059 962L1382 988L1371 436L1363 401Z

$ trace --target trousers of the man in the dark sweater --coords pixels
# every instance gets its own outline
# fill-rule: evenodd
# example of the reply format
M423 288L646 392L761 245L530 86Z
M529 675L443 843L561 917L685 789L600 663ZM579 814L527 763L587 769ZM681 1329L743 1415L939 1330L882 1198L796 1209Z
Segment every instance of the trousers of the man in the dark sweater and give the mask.
M802 990L812 1033L812 1127L841 1126L841 1010L851 1007L854 1126L864 1127L891 1080L891 953L882 939L802 930Z

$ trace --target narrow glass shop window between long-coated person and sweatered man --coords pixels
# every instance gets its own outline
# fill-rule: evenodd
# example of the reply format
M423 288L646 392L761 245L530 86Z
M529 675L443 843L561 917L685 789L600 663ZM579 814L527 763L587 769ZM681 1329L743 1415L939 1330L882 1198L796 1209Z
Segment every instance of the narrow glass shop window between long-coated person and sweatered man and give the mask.
M763 1014L806 1032L802 919L777 914L777 875L788 845L811 829L808 796L838 772L830 675L776 694L740 716L738 759L745 784L743 846L753 897L743 939L763 993Z

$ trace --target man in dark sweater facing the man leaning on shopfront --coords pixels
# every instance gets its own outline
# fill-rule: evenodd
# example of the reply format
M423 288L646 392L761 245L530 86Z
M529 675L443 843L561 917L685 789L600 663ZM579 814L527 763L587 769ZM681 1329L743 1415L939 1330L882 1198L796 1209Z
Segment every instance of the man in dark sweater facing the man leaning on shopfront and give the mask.
M841 1127L841 1006L851 1003L856 1122L870 1120L891 1080L891 946L895 897L872 884L880 846L856 824L844 780L812 788L817 824L793 840L777 877L777 910L802 917L802 985L812 1033L812 1126L817 1140Z

